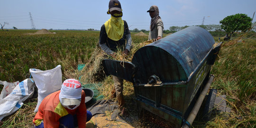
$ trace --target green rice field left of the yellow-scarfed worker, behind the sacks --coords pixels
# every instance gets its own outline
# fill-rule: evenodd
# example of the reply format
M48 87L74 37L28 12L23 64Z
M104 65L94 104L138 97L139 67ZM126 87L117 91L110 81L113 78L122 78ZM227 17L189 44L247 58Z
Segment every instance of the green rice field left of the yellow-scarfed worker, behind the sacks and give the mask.
M31 32L32 31L32 32ZM98 44L99 33L55 31L57 34L24 35L33 30L0 31L0 80L23 81L29 68L48 70L62 65L64 78L88 60Z

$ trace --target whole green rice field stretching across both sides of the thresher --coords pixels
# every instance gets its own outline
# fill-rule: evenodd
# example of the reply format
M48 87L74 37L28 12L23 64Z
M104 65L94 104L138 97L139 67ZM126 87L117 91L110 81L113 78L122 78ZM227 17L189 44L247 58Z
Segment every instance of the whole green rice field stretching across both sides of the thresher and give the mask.
M73 77L78 64L86 64L98 46L99 31L53 30L57 34L25 35L36 30L0 31L0 80L23 81L30 68L48 70L62 65L63 80ZM133 43L147 37L134 36ZM214 37L215 40L219 37ZM256 38L242 38L232 45L224 42L212 67L215 80L211 88L218 95L227 95L230 117L217 115L206 124L196 122L196 128L253 128L256 125ZM2 90L0 85L0 91ZM30 128L35 116L37 99L24 102L15 114L2 119L1 128Z

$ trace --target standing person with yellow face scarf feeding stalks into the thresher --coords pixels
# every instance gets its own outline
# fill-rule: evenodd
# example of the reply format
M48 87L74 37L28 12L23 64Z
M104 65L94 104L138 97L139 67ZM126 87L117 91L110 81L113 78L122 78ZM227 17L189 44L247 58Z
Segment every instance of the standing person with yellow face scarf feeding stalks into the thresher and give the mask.
M101 26L99 45L101 49L113 57L116 56L117 48L122 49L123 54L128 55L131 47L131 34L128 24L122 20L123 12L119 0L110 0L107 14L111 17ZM113 76L114 86L111 91L111 98L117 98L120 115L126 116L123 96L123 79Z

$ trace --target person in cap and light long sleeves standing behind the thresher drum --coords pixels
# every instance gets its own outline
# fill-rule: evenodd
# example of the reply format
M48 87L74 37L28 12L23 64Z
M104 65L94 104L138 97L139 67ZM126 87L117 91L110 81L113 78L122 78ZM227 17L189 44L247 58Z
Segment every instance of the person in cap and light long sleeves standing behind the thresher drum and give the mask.
M163 38L164 23L161 17L159 16L158 7L153 5L146 12L149 12L149 15L151 17L150 32L148 34L148 40L152 40L152 39L159 40Z

